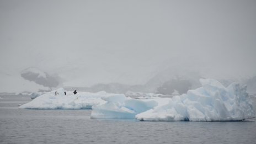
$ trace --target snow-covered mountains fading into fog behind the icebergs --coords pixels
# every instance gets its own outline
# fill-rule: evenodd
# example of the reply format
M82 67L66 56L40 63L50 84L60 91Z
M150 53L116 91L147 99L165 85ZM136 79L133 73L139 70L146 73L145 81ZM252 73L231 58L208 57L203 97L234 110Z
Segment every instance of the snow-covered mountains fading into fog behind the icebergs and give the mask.
M48 91L52 88L65 87L68 90L77 89L84 92L99 92L104 90L108 93L126 93L142 92L142 93L159 93L173 95L173 93L183 94L189 89L200 87L199 79L205 78L199 72L185 71L182 68L169 67L163 71L154 74L145 84L124 84L124 83L98 83L90 87L65 86L62 78L57 74L49 74L36 67L25 68L17 73L1 73L1 79L9 89L0 88L0 92L20 93L20 92L38 92ZM61 75L61 74L60 74ZM256 93L256 76L252 78L223 79L216 78L228 86L232 82L246 84L249 94ZM67 81L67 80L66 80ZM65 82L66 82L65 81ZM76 81L74 81L76 83Z

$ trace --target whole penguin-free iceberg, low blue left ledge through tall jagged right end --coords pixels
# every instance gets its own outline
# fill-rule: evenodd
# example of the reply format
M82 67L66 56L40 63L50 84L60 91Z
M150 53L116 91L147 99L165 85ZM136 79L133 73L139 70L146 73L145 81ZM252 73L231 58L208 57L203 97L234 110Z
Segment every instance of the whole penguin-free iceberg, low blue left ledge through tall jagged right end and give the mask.
M215 79L200 79L202 87L173 98L132 99L108 96L92 106L91 118L139 121L239 121L254 118L246 86L224 87Z

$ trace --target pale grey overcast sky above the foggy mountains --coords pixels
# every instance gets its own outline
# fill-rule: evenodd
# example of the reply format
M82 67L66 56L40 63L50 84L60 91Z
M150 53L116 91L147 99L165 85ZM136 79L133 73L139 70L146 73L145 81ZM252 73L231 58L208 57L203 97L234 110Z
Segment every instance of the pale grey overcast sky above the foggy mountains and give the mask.
M256 1L3 1L0 74L143 84L165 68L256 75Z

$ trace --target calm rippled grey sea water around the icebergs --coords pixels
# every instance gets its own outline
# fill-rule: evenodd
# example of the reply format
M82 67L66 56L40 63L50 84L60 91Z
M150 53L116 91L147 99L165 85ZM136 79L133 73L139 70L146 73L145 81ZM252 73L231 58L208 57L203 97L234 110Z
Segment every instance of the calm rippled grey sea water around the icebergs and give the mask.
M91 110L23 110L28 96L0 96L0 143L256 143L256 119L141 122L90 119Z

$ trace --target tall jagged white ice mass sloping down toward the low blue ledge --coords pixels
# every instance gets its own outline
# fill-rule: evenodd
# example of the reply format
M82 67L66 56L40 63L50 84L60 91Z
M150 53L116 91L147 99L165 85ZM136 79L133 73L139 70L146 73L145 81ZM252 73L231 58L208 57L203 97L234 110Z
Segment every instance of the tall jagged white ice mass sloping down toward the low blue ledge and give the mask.
M137 114L141 121L236 121L254 117L245 86L225 88L214 79L200 79L202 87L176 96L169 103Z

